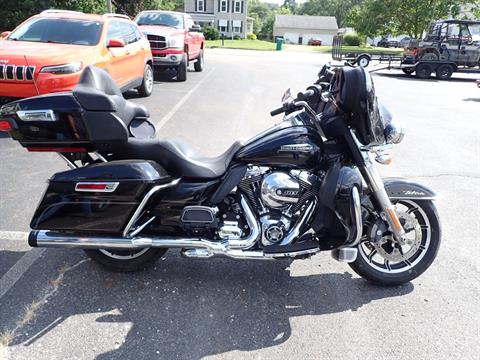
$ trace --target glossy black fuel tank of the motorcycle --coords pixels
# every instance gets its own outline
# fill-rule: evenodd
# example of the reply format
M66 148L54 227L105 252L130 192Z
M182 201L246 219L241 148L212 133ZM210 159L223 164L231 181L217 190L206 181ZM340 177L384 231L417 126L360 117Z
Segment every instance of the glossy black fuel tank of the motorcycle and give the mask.
M279 124L250 140L237 161L257 166L310 169L322 156L322 138L307 125Z

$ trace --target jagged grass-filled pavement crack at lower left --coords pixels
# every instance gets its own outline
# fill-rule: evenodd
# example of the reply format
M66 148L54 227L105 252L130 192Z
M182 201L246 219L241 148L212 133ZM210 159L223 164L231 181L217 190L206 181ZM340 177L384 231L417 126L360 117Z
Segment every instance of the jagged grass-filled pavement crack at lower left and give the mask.
M48 289L42 297L25 306L22 317L17 321L16 326L13 329L6 329L0 333L0 359L7 358L8 347L11 342L18 336L18 333L25 325L29 324L37 317L43 305L47 304L48 300L57 293L65 275L87 261L90 261L90 259L80 260L73 265L65 264L58 269L58 276L49 281L51 288Z

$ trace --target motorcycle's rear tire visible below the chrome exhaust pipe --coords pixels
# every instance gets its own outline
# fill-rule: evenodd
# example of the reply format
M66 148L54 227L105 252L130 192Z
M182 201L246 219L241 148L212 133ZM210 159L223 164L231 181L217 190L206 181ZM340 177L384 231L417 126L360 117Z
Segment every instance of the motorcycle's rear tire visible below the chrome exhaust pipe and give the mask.
M85 250L91 259L106 269L117 272L144 270L152 266L166 252L167 249L163 248L140 249L133 250L133 252L130 250ZM131 254L130 257L129 254ZM136 256L136 254L140 255ZM136 257L132 258L132 256ZM122 259L122 257L124 258Z

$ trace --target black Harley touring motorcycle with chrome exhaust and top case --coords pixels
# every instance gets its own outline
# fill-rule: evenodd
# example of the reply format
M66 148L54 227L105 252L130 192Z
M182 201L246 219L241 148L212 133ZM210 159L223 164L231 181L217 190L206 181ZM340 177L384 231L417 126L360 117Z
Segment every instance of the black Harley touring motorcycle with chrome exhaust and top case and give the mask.
M361 67L324 66L283 121L217 157L154 139L148 111L109 75L87 67L71 93L0 109L0 129L29 151L57 152L31 221L33 247L85 249L118 271L151 265L168 248L188 258L304 259L320 251L384 285L410 281L440 245L435 194L381 178L403 130L378 104Z

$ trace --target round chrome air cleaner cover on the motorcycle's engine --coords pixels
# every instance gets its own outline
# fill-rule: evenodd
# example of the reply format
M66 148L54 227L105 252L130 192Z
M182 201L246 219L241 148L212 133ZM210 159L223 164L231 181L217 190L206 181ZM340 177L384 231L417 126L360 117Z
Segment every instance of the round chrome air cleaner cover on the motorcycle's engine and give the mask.
M284 172L274 172L264 177L260 196L272 209L285 209L296 204L300 196L300 184Z

